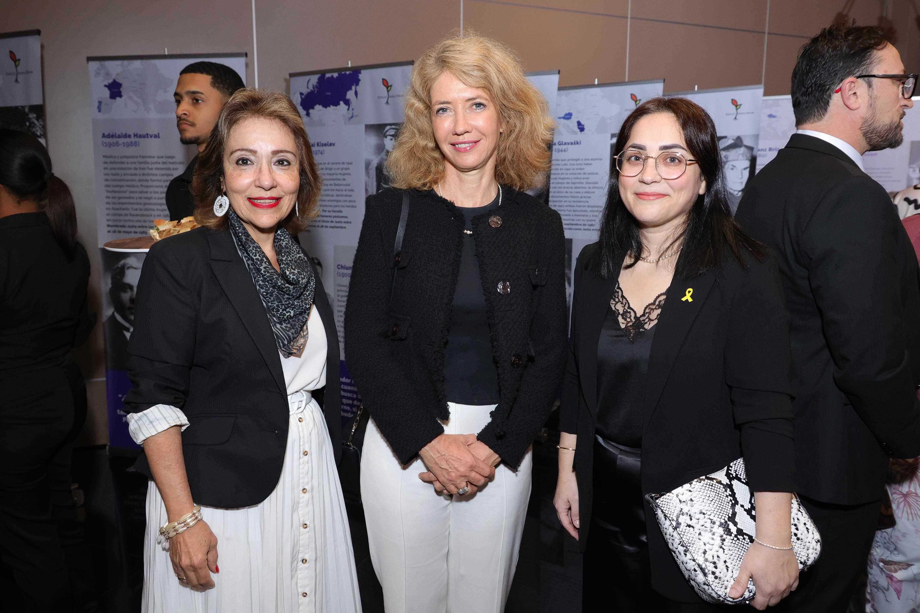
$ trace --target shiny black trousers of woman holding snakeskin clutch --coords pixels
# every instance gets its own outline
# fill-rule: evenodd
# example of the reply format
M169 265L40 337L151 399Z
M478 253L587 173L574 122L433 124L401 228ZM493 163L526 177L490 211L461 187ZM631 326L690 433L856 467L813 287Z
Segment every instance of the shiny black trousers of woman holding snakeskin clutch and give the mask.
M594 442L591 528L584 551L583 613L709 613L728 607L681 603L651 588L649 542L639 481L641 452L598 437Z

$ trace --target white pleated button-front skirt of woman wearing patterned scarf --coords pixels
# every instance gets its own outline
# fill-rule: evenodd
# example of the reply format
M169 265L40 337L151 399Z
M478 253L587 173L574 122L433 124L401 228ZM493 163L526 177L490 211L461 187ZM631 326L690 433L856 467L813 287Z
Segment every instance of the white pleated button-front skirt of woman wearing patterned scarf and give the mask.
M309 392L288 396L290 422L281 479L259 505L202 506L217 537L213 589L180 583L157 543L163 498L147 488L144 613L360 613L348 516L332 441ZM304 493L304 491L306 493Z

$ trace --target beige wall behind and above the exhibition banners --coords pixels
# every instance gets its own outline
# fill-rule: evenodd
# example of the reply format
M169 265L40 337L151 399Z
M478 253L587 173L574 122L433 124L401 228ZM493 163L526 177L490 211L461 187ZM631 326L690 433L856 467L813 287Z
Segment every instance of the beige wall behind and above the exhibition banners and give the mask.
M665 91L763 81L787 94L796 52L844 0L464 0L466 28L495 36L527 70L561 71L560 85L661 78ZM854 0L849 15L898 29L908 71L920 69L913 0ZM298 71L417 57L460 26L460 0L256 0L259 85L287 90ZM767 15L769 7L769 15ZM86 56L247 51L250 0L0 0L0 31L41 29L48 146L74 191L101 312ZM767 28L769 19L769 28ZM764 56L765 31L766 62ZM627 50L628 38L628 50ZM627 52L628 51L628 52ZM627 65L628 56L628 65ZM766 68L764 69L764 67ZM102 331L82 352L92 418L86 440L106 442Z

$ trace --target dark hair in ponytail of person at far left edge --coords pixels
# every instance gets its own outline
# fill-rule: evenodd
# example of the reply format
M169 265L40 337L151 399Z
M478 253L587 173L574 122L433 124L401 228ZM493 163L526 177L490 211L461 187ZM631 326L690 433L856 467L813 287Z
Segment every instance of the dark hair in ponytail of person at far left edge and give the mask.
M48 215L52 234L67 258L76 247L76 208L70 188L52 174L52 158L26 132L0 130L0 185L18 199L34 200Z

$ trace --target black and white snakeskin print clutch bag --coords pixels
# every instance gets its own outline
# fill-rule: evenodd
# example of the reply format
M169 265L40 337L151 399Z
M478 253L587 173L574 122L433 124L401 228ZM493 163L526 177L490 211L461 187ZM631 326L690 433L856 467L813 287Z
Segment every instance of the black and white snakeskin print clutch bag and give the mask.
M655 509L661 534L696 594L720 604L753 600L753 581L742 597L729 597L756 534L753 492L748 489L742 458L672 492L646 494L645 498ZM821 535L796 494L792 494L792 551L799 559L799 571L811 567L821 553Z

